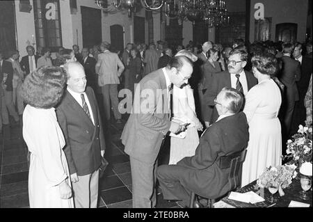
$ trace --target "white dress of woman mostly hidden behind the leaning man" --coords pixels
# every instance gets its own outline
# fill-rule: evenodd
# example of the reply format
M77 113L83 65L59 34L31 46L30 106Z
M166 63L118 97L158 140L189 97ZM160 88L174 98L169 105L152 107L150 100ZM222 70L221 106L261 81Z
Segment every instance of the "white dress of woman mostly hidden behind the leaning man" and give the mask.
M170 161L169 164L177 164L177 162L184 157L192 157L195 154L195 149L199 144L198 131L195 128L195 122L192 122L187 116L184 116L184 109L179 100L188 99L188 104L195 112L195 100L193 98L193 90L189 85L183 88L173 86L172 93L172 109L173 118L181 120L182 122L190 122L191 125L186 129L185 138L170 138Z

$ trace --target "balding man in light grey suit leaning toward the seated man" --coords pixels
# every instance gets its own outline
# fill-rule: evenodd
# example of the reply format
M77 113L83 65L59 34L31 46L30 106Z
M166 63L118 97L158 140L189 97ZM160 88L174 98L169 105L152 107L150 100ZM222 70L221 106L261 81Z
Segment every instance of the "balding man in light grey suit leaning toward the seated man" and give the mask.
M168 132L186 129L186 125L170 121L170 86L181 87L192 72L191 61L176 56L166 68L147 74L135 90L133 109L121 136L131 162L133 207L156 205L154 185L162 139Z

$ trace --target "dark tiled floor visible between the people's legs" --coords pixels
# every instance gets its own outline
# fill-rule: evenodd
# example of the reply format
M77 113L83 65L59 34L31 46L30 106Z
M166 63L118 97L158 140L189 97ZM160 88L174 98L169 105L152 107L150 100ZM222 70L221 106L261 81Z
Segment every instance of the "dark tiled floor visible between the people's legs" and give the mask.
M124 125L109 126L105 157L109 161L99 180L99 208L131 208L131 168L124 152L120 134ZM164 149L168 150L168 149ZM29 207L27 149L22 138L22 127L3 127L0 134L0 208ZM166 161L164 152L161 161ZM163 160L162 160L163 159ZM157 207L177 208L177 203L163 200L158 189Z

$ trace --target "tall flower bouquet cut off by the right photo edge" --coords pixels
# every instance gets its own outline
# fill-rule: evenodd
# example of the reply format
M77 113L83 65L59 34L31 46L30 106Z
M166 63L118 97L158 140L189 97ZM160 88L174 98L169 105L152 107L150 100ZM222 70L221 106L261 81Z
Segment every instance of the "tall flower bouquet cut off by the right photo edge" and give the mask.
M291 158L290 164L299 164L305 161L312 161L312 125L299 125L298 133L287 141L287 155L284 158Z

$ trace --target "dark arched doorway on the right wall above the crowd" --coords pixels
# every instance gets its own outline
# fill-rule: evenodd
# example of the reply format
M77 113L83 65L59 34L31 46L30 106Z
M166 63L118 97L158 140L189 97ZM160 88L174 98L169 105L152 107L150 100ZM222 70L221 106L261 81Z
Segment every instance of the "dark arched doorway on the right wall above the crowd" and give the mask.
M298 24L295 23L280 23L276 24L276 42L291 42L294 43L297 40Z

